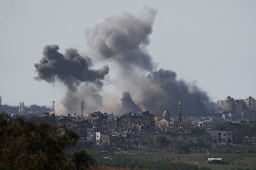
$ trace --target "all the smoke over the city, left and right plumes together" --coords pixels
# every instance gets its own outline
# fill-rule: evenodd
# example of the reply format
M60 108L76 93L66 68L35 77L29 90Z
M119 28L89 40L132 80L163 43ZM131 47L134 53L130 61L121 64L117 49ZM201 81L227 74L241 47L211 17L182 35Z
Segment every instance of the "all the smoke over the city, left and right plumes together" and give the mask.
M149 110L160 115L166 109L177 111L181 101L185 115L207 114L210 102L207 93L196 84L178 80L174 71L157 69L148 54L146 46L150 43L156 13L151 8L146 8L141 15L123 12L106 18L89 33L89 56L101 63L117 65L111 67L117 76L112 78L114 90L105 90L104 100L109 103L105 111L122 114ZM92 60L81 57L76 50L68 49L64 55L57 50L57 45L45 47L44 57L35 64L36 79L49 83L57 79L67 85L69 90L62 104L73 111L79 108L84 95L97 93L102 87L104 91L102 80L109 67L94 70ZM81 82L85 83L79 86ZM119 100L112 100L116 96Z

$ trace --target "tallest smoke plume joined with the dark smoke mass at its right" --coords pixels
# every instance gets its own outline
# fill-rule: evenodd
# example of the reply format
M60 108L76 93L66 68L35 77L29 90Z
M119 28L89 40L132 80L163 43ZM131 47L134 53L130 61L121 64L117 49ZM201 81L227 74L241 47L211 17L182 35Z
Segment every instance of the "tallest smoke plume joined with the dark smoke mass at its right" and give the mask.
M129 107L150 110L157 115L166 109L177 112L181 101L184 115L208 114L207 93L196 84L178 80L172 70L157 70L157 64L148 54L146 46L150 43L155 16L156 11L147 8L142 15L124 12L106 18L89 35L90 53L103 62L115 62L119 66L114 68L118 76L113 86L119 91L130 91L123 93L122 112Z

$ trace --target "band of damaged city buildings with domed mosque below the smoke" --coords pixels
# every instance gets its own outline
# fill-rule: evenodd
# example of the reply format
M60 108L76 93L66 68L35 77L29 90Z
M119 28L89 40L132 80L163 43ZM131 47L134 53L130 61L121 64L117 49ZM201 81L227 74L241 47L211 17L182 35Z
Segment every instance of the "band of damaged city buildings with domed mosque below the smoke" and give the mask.
M100 95L95 100L102 102ZM55 103L55 102L54 102ZM154 137L162 135L175 142L196 141L202 139L208 144L255 144L256 143L256 101L249 97L234 100L228 96L218 101L217 110L211 110L209 116L184 116L182 101L177 104L177 115L172 116L168 110L158 116L150 111L124 113L121 115L106 112L93 112L83 115L68 113L55 115L52 108L31 105L24 102L13 107L13 118L24 117L33 123L49 123L53 126L65 126L76 132L80 140L92 142L99 147L105 145L118 150L133 148L150 148ZM2 105L1 110L8 107ZM64 133L64 132L63 132Z

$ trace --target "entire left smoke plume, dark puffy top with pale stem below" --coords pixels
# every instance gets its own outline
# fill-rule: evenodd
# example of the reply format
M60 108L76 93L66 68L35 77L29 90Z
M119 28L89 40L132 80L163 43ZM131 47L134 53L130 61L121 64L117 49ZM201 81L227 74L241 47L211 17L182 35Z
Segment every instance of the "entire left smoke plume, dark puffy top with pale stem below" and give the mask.
M91 95L101 90L102 80L108 74L109 67L92 69L92 60L80 56L76 49L68 48L64 54L58 50L58 45L44 47L41 60L35 64L35 80L45 80L48 83L58 80L68 87L65 97L61 100L66 110L62 110L60 114L79 113L82 100L87 100L86 111L90 112L90 106L93 106L89 102Z

